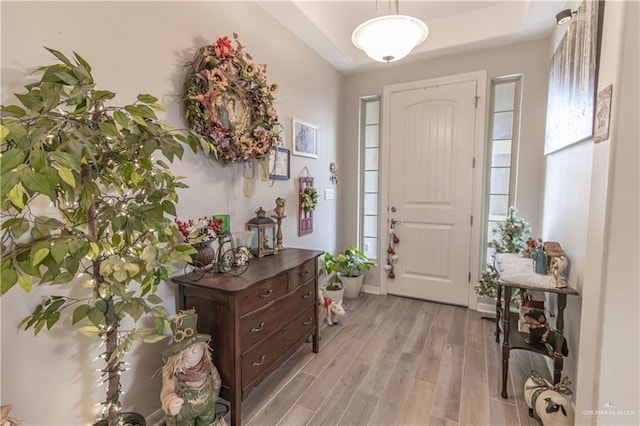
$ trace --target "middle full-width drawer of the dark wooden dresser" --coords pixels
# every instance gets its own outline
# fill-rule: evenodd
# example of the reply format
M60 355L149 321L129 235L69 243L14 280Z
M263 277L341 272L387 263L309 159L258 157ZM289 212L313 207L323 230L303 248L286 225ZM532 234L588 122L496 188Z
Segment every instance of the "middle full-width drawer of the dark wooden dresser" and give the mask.
M315 280L298 287L291 294L276 299L269 306L240 318L240 350L244 352L273 331L282 327L305 306L313 307Z

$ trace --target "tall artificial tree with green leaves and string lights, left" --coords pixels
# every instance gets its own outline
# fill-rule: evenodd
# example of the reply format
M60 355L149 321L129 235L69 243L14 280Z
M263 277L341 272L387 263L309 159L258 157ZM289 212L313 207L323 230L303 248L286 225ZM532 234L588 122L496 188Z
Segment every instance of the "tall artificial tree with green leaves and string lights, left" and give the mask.
M194 252L166 217L175 216L176 190L186 185L161 158L181 158L184 144L215 148L158 120L154 110L163 108L151 95L107 106L115 93L96 89L80 55L72 61L47 50L59 63L38 68L40 80L15 95L22 106L1 107L0 290L82 289L82 298L52 293L21 325L38 334L72 309L81 333L105 341L102 415L111 426L121 408L123 357L139 339L164 337L168 312L156 290L171 265ZM145 314L155 327L124 329L127 317L135 327Z

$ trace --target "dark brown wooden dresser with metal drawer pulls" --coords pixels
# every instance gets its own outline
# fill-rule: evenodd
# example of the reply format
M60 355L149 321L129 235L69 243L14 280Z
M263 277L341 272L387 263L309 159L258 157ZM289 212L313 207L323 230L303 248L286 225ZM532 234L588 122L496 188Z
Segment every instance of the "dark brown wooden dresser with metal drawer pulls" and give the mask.
M240 425L241 402L312 336L318 352L317 258L321 251L288 248L252 259L239 277L193 274L172 278L180 309L195 308L198 331L212 336L220 396Z

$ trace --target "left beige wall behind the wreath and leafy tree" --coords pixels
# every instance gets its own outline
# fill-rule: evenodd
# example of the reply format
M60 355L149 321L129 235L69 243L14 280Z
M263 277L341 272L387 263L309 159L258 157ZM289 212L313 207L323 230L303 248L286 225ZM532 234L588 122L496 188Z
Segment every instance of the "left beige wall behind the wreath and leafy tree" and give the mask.
M132 102L138 93L161 99L168 112L164 119L184 127L180 92L183 64L195 50L219 36L237 32L257 63L268 64L268 81L280 92L276 108L284 124L285 147L291 148L291 118L319 127L319 158L291 157L291 180L257 180L255 194L243 195L242 166L223 167L188 151L172 166L187 176L181 190L178 216L183 219L209 214L230 214L232 229L241 230L253 212L287 199L283 221L284 243L290 247L335 248L336 200L320 200L314 233L297 236L297 177L304 166L322 192L329 182L329 163L335 161L341 126L340 99L344 77L306 45L281 27L253 2L2 2L2 104L13 104L12 93L21 92L27 75L54 58L42 46L67 55L78 52L93 67L101 89L118 94L112 105ZM2 403L14 405L13 415L31 425L78 425L95 418L94 403L103 399L95 389L99 365L88 338L64 319L52 332L34 338L17 330L40 294L25 295L15 289L0 300L2 310ZM160 295L175 310L173 286ZM129 355L132 371L124 380L124 408L149 415L158 408L160 381L152 377L161 367L165 343L136 347Z

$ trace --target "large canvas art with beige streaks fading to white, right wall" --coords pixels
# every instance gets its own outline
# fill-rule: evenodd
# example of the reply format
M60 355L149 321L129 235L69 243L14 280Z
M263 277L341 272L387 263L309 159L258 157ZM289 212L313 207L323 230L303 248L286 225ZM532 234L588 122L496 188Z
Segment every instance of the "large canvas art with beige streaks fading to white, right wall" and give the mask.
M545 155L593 136L604 1L583 1L551 58Z

